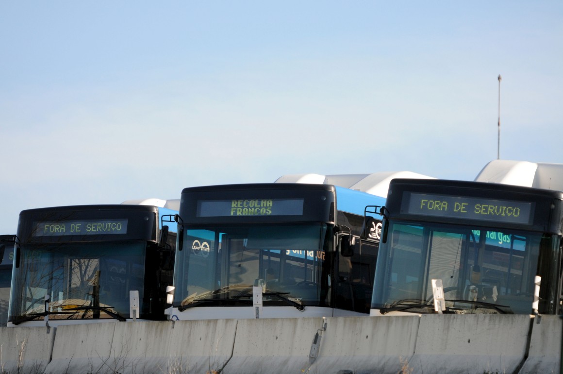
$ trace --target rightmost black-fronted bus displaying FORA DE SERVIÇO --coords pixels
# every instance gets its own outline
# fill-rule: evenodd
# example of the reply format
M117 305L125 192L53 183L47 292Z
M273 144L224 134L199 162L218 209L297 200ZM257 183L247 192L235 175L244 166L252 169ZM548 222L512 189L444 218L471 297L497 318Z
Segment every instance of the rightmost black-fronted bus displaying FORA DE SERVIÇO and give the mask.
M371 315L561 313L562 192L395 179L381 212Z

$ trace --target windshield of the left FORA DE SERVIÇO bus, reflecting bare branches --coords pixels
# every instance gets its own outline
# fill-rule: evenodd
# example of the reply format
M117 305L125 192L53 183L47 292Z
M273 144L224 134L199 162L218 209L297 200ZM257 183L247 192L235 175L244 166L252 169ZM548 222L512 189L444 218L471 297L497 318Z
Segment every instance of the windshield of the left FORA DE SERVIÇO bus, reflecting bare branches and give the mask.
M144 242L22 246L10 320L128 318L129 291L139 291L143 305L144 269Z

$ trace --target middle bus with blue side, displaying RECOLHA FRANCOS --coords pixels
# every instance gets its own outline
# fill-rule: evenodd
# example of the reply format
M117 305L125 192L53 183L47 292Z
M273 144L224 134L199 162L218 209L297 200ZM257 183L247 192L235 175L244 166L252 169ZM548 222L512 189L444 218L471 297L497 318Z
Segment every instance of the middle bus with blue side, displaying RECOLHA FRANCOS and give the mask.
M184 189L169 318L369 315L384 202L318 184Z

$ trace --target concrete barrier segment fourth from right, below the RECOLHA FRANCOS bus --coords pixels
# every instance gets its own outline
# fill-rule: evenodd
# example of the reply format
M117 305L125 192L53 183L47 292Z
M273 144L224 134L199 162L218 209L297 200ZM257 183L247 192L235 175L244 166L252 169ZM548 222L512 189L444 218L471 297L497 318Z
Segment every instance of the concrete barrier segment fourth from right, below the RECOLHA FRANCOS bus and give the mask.
M223 373L303 373L323 318L240 319Z

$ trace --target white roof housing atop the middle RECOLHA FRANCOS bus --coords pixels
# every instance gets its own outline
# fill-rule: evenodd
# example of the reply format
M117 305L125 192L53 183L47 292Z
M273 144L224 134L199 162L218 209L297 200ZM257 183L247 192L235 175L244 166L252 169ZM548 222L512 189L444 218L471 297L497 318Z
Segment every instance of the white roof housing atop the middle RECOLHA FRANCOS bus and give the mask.
M371 174L288 174L282 175L275 182L332 184L386 198L389 182L395 178L436 179L412 171L385 171Z

